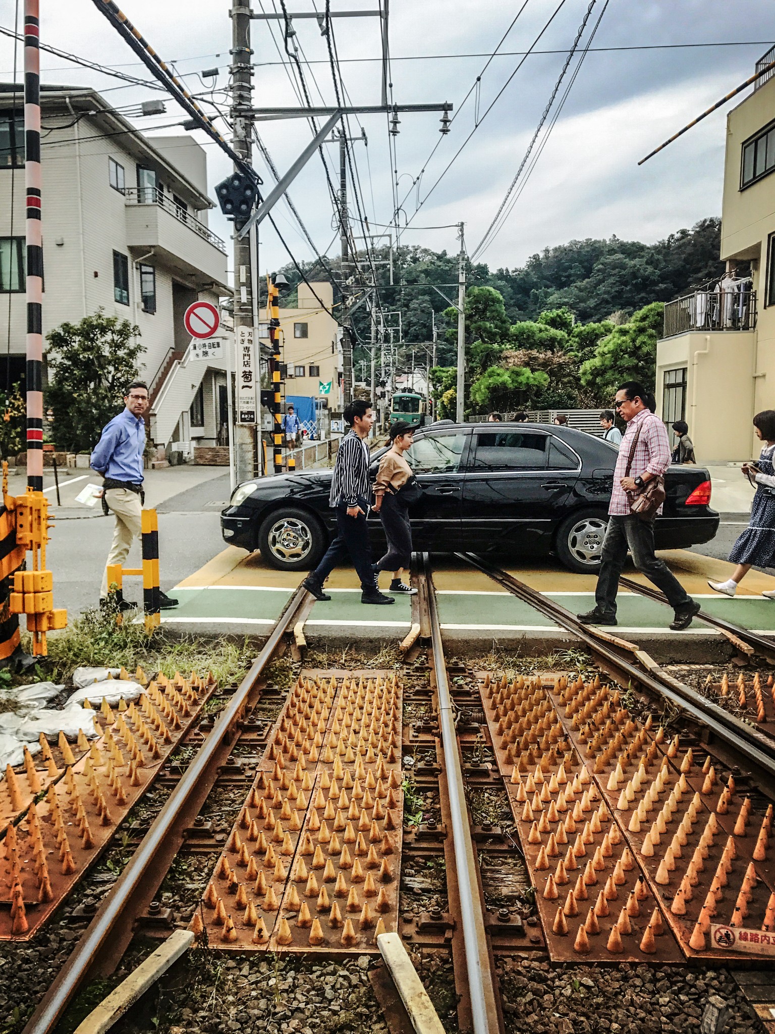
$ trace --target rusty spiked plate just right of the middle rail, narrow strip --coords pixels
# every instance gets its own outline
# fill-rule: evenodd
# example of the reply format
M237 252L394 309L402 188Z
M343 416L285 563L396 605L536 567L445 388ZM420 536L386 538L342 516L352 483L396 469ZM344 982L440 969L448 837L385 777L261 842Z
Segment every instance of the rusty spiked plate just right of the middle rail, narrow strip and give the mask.
M682 961L556 698L540 678L479 688L551 957Z

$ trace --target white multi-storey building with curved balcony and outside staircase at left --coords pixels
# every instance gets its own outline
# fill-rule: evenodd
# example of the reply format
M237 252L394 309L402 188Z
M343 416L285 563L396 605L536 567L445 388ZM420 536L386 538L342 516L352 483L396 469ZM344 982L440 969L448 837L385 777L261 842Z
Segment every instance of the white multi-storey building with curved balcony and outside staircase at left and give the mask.
M226 246L208 229L205 150L189 135L146 138L91 89L41 87L41 119L43 336L99 308L136 324L152 439L184 452L227 444L225 360L191 360L183 326L191 302L231 295ZM10 343L11 384L25 377L24 235L23 97L6 84L0 341L3 352Z

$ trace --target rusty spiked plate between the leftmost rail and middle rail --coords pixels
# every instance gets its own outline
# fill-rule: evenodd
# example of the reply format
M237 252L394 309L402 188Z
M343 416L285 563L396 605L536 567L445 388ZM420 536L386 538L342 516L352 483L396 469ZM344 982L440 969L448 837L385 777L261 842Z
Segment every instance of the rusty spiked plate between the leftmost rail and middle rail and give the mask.
M398 925L401 689L303 672L191 929L213 947L375 950Z

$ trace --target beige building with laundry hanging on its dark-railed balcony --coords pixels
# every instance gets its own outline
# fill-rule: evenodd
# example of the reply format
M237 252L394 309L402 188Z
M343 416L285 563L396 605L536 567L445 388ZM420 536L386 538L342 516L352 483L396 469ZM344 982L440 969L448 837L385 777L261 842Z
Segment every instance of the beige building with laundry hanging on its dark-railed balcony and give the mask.
M770 54L757 68L772 61ZM726 119L721 255L727 274L665 306L657 413L685 420L700 462L757 457L751 419L775 408L775 78ZM744 265L745 264L745 265ZM750 278L739 268L747 269Z

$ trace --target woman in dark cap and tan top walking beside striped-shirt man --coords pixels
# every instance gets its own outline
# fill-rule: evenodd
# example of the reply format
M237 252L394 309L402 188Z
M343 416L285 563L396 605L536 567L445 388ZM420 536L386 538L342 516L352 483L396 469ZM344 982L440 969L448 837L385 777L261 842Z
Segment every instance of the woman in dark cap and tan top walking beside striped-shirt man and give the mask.
M374 574L392 571L393 581L389 592L412 596L415 588L401 581L401 572L411 562L411 525L409 505L422 493L404 453L411 446L414 428L404 420L397 420L391 427L393 446L379 461L377 480L374 482L374 511L379 514L388 540L388 552L374 565Z

